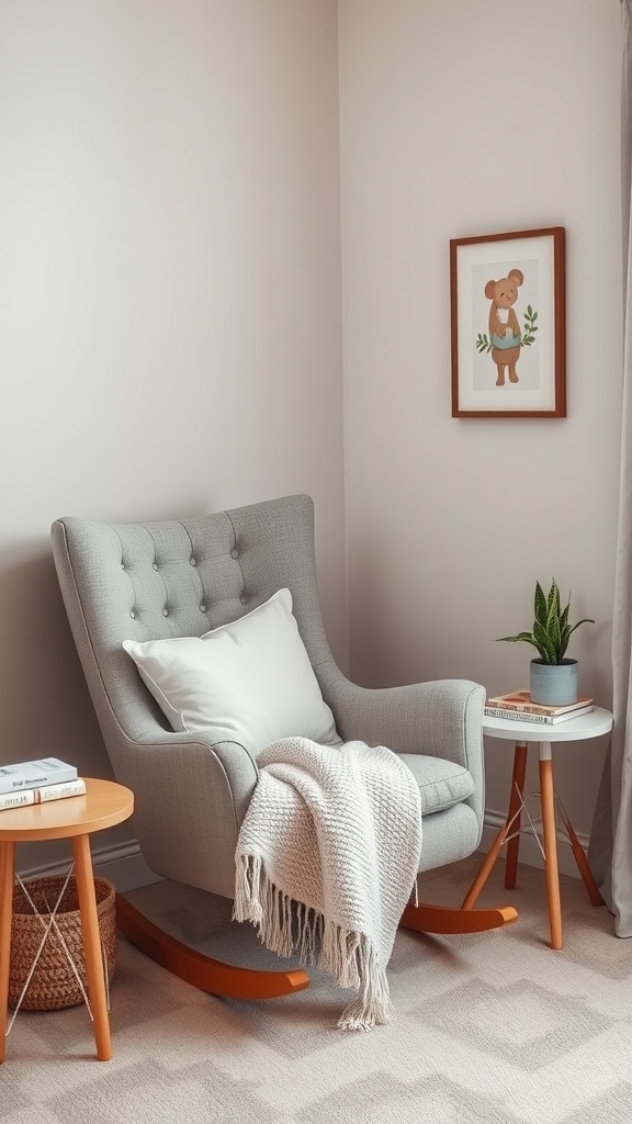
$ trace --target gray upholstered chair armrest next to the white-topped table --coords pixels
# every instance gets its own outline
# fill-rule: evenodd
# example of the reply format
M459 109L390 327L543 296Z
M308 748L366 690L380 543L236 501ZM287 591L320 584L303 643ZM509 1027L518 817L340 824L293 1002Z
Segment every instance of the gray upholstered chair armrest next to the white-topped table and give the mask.
M342 673L322 677L343 741L360 738L396 753L426 753L467 769L482 754L485 688L467 679L365 688Z

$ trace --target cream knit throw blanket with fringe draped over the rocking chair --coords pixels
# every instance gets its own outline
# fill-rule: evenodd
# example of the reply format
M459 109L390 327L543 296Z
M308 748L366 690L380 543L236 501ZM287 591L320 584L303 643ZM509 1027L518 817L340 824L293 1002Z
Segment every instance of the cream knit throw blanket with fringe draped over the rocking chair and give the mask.
M388 1023L386 969L422 845L413 773L385 746L305 737L273 742L258 765L235 855L235 918L279 955L298 950L356 989L338 1026Z

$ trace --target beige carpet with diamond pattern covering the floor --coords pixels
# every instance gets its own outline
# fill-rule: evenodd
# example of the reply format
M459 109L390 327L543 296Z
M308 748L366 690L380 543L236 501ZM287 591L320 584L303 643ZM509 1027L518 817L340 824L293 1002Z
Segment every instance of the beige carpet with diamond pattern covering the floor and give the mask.
M424 897L458 903L476 864L434 872ZM542 873L521 868L512 894L502 877L499 863L480 904L515 904L518 923L470 937L400 932L389 973L397 1021L368 1034L336 1030L347 992L316 973L291 998L227 1001L120 939L114 1060L93 1059L85 1008L20 1013L0 1069L0 1120L631 1124L632 941L565 878L565 948L553 952ZM217 899L166 882L133 897L217 957L265 960Z

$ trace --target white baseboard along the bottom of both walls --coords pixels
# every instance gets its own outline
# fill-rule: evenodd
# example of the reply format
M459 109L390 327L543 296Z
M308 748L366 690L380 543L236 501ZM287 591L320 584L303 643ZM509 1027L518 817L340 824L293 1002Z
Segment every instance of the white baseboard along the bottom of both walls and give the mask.
M504 823L505 816L502 813L486 812L482 839L478 849L479 852L485 854L489 850L498 828ZM579 836L579 842L584 849L588 846L588 840L581 835ZM520 861L524 862L527 867L544 869L540 847L529 826L523 828L521 835ZM108 878L121 894L125 894L126 890L135 890L141 886L150 886L151 882L162 881L160 874L154 874L153 870L150 870L147 867L135 840L123 846L93 847L92 865L94 873L99 874L100 878ZM558 865L560 873L579 878L572 852L563 842L560 842L558 847ZM20 874L25 879L45 878L48 874L65 873L66 870L66 864L56 863L42 865L31 870L21 870Z

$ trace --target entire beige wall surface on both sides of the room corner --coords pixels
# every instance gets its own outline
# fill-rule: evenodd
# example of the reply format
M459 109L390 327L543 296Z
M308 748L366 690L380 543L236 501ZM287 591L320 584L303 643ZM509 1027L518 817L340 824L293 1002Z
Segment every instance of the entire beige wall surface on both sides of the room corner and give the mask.
M530 650L493 638L554 574L608 704L619 24L617 0L0 0L1 759L107 772L56 516L292 491L344 662L345 489L360 681L524 682ZM453 420L449 239L558 224L568 418ZM584 835L603 750L557 754ZM499 743L487 773L494 818Z

